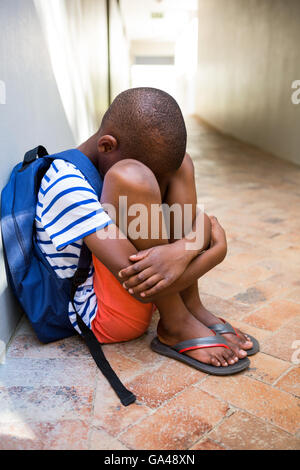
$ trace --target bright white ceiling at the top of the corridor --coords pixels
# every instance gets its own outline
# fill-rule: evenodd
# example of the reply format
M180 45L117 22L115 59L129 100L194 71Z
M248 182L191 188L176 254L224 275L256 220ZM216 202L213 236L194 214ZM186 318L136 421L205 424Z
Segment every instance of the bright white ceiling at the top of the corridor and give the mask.
M175 41L197 14L197 0L120 0L129 40ZM156 18L152 18L152 15ZM158 17L157 17L158 16Z

